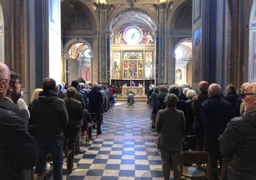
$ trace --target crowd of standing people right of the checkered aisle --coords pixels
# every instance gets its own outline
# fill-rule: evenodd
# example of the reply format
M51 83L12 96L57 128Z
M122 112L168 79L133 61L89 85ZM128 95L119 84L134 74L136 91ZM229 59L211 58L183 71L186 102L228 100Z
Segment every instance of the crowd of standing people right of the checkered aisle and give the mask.
M232 84L226 87L226 95L219 84L206 81L199 83L198 90L196 95L188 85L149 87L164 179L169 180L170 166L178 179L182 136L196 135L199 151L210 155L211 168L227 157L228 180L255 180L256 81L242 84L240 95Z

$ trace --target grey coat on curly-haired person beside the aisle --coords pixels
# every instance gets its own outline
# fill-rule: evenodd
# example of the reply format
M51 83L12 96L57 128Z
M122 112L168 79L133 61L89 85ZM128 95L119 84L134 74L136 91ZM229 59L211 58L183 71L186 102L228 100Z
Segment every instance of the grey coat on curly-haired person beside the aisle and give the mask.
M186 122L184 113L177 109L159 110L155 127L158 134L157 148L165 151L182 151L182 133Z

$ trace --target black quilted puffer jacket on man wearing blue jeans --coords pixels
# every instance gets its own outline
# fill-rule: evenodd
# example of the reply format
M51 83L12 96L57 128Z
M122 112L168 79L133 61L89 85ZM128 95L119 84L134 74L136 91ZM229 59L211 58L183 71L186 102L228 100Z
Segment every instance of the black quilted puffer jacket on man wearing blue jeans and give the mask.
M44 92L44 91L42 91ZM55 93L56 94L56 93ZM39 96L31 104L29 124L34 125L36 139L59 139L68 123L68 112L63 99Z

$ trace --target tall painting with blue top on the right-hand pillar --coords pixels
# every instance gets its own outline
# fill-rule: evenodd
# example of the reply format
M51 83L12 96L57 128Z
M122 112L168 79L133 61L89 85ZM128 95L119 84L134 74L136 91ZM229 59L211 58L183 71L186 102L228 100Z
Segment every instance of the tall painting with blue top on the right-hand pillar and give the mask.
M193 55L194 55L194 79L193 82L199 82L201 76L201 48L202 48L202 27L200 26L193 33Z

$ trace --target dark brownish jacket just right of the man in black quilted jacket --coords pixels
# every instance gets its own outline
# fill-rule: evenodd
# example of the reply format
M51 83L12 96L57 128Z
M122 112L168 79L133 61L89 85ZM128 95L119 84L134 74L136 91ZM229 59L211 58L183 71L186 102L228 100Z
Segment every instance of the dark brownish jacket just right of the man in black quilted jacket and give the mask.
M83 125L82 103L73 98L63 100L68 111L68 125L66 128L80 128Z

